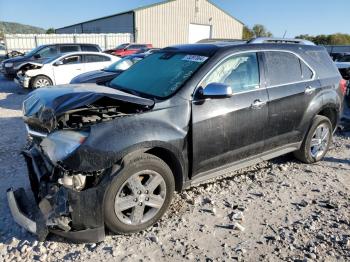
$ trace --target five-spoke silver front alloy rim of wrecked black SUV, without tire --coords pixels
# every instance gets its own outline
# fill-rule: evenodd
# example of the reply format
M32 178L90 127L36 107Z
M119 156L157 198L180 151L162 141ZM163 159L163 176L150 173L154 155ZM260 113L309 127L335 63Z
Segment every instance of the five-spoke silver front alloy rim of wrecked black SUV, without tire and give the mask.
M153 170L129 177L119 189L114 203L118 219L129 225L151 220L162 208L166 197L164 178Z

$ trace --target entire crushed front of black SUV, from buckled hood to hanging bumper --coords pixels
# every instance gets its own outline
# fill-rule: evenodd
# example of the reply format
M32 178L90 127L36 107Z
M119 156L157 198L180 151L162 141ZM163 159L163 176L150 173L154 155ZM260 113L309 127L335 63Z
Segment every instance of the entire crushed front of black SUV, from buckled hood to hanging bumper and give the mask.
M103 199L114 155L86 146L96 138L91 129L150 105L95 85L32 92L23 103L28 143L22 154L35 203L23 188L8 189L14 220L40 240L52 232L77 242L102 241Z

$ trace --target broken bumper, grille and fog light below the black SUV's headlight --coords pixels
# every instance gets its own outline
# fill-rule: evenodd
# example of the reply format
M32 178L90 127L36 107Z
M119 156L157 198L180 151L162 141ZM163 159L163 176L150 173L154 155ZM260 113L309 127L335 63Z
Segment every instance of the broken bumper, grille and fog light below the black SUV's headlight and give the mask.
M8 201L15 221L39 240L52 232L78 242L102 241L103 172L77 174L53 165L34 142L22 153L36 203L30 203L22 188L9 189Z

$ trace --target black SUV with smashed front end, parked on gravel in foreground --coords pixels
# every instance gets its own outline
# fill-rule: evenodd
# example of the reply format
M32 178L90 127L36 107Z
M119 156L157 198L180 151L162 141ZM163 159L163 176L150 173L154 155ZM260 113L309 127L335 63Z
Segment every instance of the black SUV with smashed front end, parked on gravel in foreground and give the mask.
M15 221L40 239L100 241L105 225L152 226L175 190L289 152L322 160L345 82L323 47L265 42L172 46L110 87L30 93L23 155L37 203L9 189Z

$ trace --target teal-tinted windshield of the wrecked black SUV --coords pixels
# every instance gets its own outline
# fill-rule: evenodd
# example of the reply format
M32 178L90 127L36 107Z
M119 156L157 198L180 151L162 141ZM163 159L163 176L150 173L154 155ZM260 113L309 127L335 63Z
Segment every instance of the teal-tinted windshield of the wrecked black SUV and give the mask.
M155 53L114 78L111 86L130 93L165 98L174 94L208 57Z

